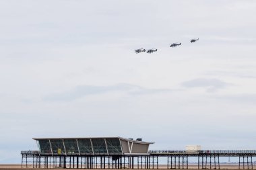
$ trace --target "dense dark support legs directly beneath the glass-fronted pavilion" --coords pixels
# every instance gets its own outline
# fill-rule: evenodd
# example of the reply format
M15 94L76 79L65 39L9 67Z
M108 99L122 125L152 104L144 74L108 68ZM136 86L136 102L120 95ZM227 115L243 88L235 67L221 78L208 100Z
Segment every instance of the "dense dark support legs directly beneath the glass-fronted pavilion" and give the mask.
M22 168L158 169L158 157L149 155L40 156L22 153Z

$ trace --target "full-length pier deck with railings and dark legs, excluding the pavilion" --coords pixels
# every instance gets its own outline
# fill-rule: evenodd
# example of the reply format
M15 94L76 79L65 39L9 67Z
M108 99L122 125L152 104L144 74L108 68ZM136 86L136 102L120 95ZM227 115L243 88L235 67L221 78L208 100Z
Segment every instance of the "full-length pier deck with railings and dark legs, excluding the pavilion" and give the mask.
M237 169L253 169L256 151L149 151L146 155L42 155L22 151L22 168L189 169L189 157L197 157L198 169L221 169L220 157L238 157Z

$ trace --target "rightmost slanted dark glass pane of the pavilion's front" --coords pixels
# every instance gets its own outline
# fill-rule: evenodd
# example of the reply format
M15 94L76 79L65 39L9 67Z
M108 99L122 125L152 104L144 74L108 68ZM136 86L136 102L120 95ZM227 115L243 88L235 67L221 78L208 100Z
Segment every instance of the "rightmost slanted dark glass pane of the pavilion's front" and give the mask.
M109 155L122 154L122 148L119 138L106 138L106 145L108 146Z

